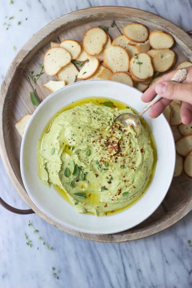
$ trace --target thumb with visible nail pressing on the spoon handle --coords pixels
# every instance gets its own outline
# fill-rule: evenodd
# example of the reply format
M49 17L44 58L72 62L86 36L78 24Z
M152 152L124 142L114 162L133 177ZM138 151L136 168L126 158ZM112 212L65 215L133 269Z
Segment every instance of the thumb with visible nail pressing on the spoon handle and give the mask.
M181 100L192 104L192 83L164 81L156 85L155 91L163 98Z

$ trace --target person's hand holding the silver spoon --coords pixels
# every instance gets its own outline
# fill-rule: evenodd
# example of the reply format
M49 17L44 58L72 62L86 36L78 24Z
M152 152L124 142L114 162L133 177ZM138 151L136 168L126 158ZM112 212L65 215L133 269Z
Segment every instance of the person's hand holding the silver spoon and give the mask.
M169 81L176 70L162 76L155 84L149 87L142 95L143 102L150 102L156 94L162 96L149 110L151 118L158 117L172 100L181 100L180 116L183 124L190 124L192 120L192 66L185 68L187 78L182 83Z

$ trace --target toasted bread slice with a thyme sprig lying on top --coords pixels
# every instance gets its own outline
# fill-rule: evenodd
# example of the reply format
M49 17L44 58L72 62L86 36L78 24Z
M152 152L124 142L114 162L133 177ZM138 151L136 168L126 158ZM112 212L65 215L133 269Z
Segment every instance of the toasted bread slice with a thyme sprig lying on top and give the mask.
M136 58L137 57L137 58ZM145 80L153 76L151 57L147 53L139 53L130 60L129 71L135 77Z

